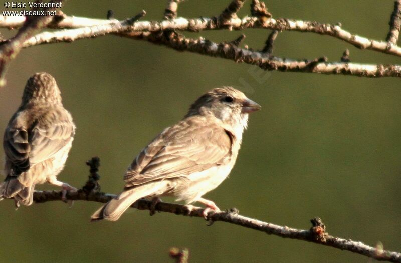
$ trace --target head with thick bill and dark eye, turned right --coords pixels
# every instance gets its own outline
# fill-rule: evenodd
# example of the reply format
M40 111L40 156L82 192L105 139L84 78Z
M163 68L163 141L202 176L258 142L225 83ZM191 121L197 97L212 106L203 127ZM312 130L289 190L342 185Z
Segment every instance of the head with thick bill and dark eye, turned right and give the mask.
M185 117L192 115L213 115L224 124L246 128L248 113L260 110L261 106L248 99L244 93L233 87L213 89L200 96L189 108Z

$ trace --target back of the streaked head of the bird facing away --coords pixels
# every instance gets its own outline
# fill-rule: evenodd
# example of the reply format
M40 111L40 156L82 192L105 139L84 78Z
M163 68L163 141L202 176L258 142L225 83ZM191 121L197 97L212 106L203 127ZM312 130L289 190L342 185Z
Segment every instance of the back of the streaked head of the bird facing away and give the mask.
M25 85L22 103L43 102L61 104L61 94L56 80L46 72L35 73Z

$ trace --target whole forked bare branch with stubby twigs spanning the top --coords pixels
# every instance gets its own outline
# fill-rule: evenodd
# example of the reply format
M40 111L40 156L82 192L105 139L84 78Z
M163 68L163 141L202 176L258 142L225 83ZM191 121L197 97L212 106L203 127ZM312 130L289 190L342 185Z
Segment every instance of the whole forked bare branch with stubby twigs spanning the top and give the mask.
M273 41L277 33L288 30L327 35L343 40L360 49L370 49L393 56L401 56L401 47L396 44L400 25L400 1L397 0L394 4L394 11L389 23L390 31L386 41L372 40L352 34L342 29L340 24L322 24L286 18L274 19L267 11L266 5L259 0L252 1L252 17L238 18L236 14L243 6L244 0L233 0L219 16L198 19L176 18L178 3L182 2L182 0L170 0L165 9L164 20L159 22L136 21L145 14L144 11L133 18L122 21L69 17L62 14L58 16L58 19L55 17L51 23L48 23L47 27L70 28L69 30L39 33L26 39L21 44L21 47L28 48L42 44L72 42L78 39L114 34L136 40L146 40L179 51L189 51L230 59L235 62L258 65L265 70L361 77L401 77L401 66L399 65L350 63L347 60L327 62L325 57L313 60L294 60L271 55ZM21 16L0 16L0 27L18 28L23 25L24 21L25 17ZM240 48L239 43L237 44L235 41L214 43L202 37L191 39L176 33L178 30L199 32L203 30L242 30L247 28L273 30L262 51ZM242 39L244 37L245 35L243 35Z

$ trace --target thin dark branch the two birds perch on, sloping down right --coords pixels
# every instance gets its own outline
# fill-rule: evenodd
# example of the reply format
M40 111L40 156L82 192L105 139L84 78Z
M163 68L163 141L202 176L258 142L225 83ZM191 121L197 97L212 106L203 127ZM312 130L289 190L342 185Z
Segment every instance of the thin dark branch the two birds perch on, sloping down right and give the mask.
M58 191L35 191L34 201L36 203L45 203L49 201L61 201L62 193ZM78 192L69 192L67 194L68 200L73 201L92 201L99 203L106 203L115 195L108 193L85 193L82 190ZM152 201L140 199L135 202L131 207L139 210L152 210ZM184 215L190 217L203 217L203 208L194 207L188 210L188 207L180 204L173 203L157 203L155 206L156 211L173 213L176 215ZM257 231L265 232L267 234L277 235L283 238L298 239L308 241L325 246L331 246L341 250L347 250L353 253L358 253L367 257L374 258L381 261L401 262L401 253L382 250L372 246L365 245L359 241L352 241L350 239L343 239L329 235L325 232L325 226L318 218L312 221L313 226L309 230L295 229L287 226L276 225L268 222L263 222L257 219L249 218L238 214L238 211L233 208L229 211L208 213L209 225L216 221L227 222L242 227L254 229Z

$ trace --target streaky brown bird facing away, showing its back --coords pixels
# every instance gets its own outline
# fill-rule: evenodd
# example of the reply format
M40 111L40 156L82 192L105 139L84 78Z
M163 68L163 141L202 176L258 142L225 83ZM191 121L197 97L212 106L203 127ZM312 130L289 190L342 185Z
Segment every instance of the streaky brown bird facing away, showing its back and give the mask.
M0 199L14 198L17 207L31 205L35 185L44 182L62 187L64 199L66 190L76 190L56 179L64 168L74 133L75 125L61 103L56 80L45 72L34 74L4 133L6 179L0 185Z

